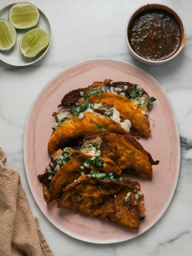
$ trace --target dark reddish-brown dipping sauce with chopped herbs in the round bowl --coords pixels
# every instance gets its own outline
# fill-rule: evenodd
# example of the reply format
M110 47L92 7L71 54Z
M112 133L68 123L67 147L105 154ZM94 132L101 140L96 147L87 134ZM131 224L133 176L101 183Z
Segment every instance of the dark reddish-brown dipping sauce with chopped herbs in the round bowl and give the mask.
M177 51L181 42L178 22L167 12L146 11L136 17L128 31L132 49L148 60L164 60Z

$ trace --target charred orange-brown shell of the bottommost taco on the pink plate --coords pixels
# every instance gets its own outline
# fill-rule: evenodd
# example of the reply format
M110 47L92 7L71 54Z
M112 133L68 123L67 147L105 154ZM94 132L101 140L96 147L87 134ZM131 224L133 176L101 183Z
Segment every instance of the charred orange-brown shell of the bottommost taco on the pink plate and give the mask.
M138 200L134 195L138 186L138 182L127 178L119 182L82 175L64 188L58 207L138 229L140 211L145 211L140 204L144 200L143 195Z

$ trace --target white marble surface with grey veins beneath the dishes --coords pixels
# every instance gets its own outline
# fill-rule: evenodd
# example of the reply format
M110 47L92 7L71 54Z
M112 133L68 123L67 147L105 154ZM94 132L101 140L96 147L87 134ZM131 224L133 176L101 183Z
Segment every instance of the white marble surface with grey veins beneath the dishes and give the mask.
M182 52L162 66L147 66L128 52L125 25L144 0L31 0L49 18L52 44L44 58L27 67L0 61L0 146L6 165L20 172L33 215L54 255L191 255L192 251L192 27L191 0L156 1L182 16L187 41ZM1 0L0 9L13 1ZM1 17L0 17L1 18ZM163 217L130 241L97 245L71 238L55 228L38 208L28 186L23 162L23 133L30 107L44 85L68 66L94 58L132 63L154 76L173 104L179 125L181 165L178 185Z

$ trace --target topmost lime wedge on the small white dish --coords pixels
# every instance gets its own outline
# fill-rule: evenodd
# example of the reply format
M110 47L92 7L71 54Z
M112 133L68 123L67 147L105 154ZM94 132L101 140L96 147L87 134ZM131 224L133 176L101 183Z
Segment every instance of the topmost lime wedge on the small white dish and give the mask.
M39 21L39 10L33 4L20 2L13 4L9 10L8 19L15 28L32 28Z

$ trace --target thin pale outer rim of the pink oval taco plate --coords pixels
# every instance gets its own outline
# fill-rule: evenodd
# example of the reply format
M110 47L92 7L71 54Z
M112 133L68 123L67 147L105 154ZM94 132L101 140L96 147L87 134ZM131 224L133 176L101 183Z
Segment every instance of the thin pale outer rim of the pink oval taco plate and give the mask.
M174 120L174 127L175 127L175 130L176 130L176 135L177 135L177 147L178 147L178 152L177 152L177 156L178 156L178 158L177 158L177 176L176 176L176 179L175 179L175 182L174 182L174 186L172 186L172 193L171 193L171 195L170 195L170 198L169 198L169 200L167 200L167 203L165 204L163 210L157 215L156 219L155 219L150 225L148 225L146 228L144 228L144 229L142 230L141 233L136 234L136 235L133 235L133 236L130 237L130 238L125 238L125 239L120 239L120 240L119 240L119 239L116 239L116 240L110 240L110 241L103 241L103 240L100 240L100 241L99 241L99 240L93 241L93 240L91 240L91 239L84 239L84 238L82 239L82 238L79 237L79 235L74 236L74 235L71 235L70 232L63 231L63 229L60 228L59 225L57 225L56 223L54 223L54 221L50 220L49 217L47 217L46 212L44 212L44 210L40 207L40 205L39 205L39 203L38 203L38 200L36 200L36 197L35 197L34 194L33 194L33 189L31 188L32 186L31 186L31 182L30 182L30 179L29 179L29 176L28 176L28 167L27 167L27 160L26 160L26 158L27 158L27 156L26 156L26 155L27 155L27 152L26 152L26 151L27 151L27 130L28 130L28 123L29 123L29 119L30 119L30 114L31 114L31 112L32 112L32 110L33 110L33 108L34 108L36 102L38 101L40 95L42 94L42 92L50 85L50 83L51 83L52 81L54 81L57 77L59 77L60 74L62 74L63 72L65 72L65 71L67 71L67 70L69 70L69 69L71 69L71 68L74 68L74 67L76 67L76 66L80 66L81 64L84 64L84 63L86 63L86 62L100 61L100 60L101 60L101 61L105 61L105 60L107 60L107 61L117 61L117 62L120 62L120 63L124 63L124 64L127 64L127 65L130 65L130 66L132 66L133 68L136 68L136 69L138 69L138 70L141 70L141 71L144 72L144 73L147 73L147 75L150 76L151 79L156 82L156 84L158 84L158 86L161 88L162 92L164 93L164 96L166 97L166 99L167 99L167 101L168 101L168 103L169 103L169 105L170 105L170 108L171 108L171 110L172 110L172 117L173 117L173 120ZM154 226L155 223L163 216L163 214L164 214L165 211L167 210L169 204L171 203L171 200L172 200L172 198L173 198L173 195L174 195L174 192L175 192L175 189L176 189L176 186L177 186L178 178L179 178L179 172L180 172L180 139L179 139L179 129L178 129L178 124L177 124L175 112L174 112L173 107L172 107L172 103L171 103L171 101L169 100L169 98L167 97L167 94L166 94L164 88L157 82L157 80L156 80L153 76L151 76L150 74L148 74L148 72L146 72L145 70L143 70L143 69L141 69L141 68L139 68L139 67L137 67L137 66L135 66L135 65L133 65L133 64L131 64L131 63L128 63L128 62L126 62L126 61L116 60L116 59L110 59L110 58L96 58L96 59L89 59L89 60L84 60L84 61L78 62L78 63L76 63L76 64L74 64L74 65L71 65L71 66L69 66L68 68L65 68L64 70L62 70L59 74L57 74L56 76L54 76L50 81L48 81L48 82L44 85L44 87L41 89L41 91L40 91L40 92L38 93L38 95L36 96L36 99L34 100L34 102L33 102L32 106L31 106L31 108L29 109L29 112L28 112L28 113L29 113L29 115L28 115L28 118L27 118L26 124L25 124L24 140L23 140L23 156L24 156L24 164L25 164L26 176L27 176L27 180L28 180L28 184L29 184L31 193L32 193L32 195L33 195L33 197L34 197L34 199L35 199L35 201L36 201L36 203L37 203L39 209L43 212L43 214L45 215L45 217L46 217L56 228L58 228L60 231L62 231L63 233L67 234L68 236L71 236L71 237L73 237L73 238L76 238L76 239L81 240L81 241L84 241L84 242L93 243L93 244L114 244L114 243L120 243L120 242L128 241L128 240L131 240L131 239L133 239L133 238L135 238L135 237L137 237L137 236L140 236L141 234L145 233L148 229L150 229L152 226Z

